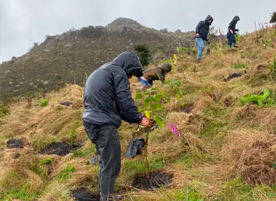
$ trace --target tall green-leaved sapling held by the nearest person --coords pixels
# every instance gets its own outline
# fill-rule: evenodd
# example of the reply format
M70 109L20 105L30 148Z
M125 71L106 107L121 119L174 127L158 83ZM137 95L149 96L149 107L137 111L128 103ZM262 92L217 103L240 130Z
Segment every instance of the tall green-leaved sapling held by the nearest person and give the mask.
M156 122L159 126L164 128L164 122L161 120L160 117L156 116L156 113L159 111L164 111L164 107L160 105L161 100L166 100L168 103L170 103L170 99L167 98L163 91L159 91L158 88L151 88L150 90L146 90L144 92L136 91L136 97L135 100L144 100L144 109L139 109L140 112L144 112L145 116L147 118L153 118L154 122ZM146 134L146 148L145 148L145 166L148 170L149 174L149 162L147 159L147 150L148 150L148 142L149 142L149 134L150 129L147 129ZM148 175L147 174L147 175Z

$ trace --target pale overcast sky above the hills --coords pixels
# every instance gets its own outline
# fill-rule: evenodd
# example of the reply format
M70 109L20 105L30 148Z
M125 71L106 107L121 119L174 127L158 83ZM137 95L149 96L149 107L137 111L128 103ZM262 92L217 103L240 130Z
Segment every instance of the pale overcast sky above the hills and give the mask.
M254 31L254 20L269 22L276 0L0 0L0 63L28 52L46 35L71 28L106 26L119 17L157 30L195 30L208 15L224 34L234 16L240 33Z

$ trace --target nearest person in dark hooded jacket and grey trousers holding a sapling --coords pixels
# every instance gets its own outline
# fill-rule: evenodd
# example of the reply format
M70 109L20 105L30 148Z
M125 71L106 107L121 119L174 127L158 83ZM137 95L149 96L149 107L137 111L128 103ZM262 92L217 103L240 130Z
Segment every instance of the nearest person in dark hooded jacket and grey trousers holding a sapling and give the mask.
M143 76L142 65L133 51L119 54L95 70L84 87L83 126L95 144L99 159L101 200L111 200L121 168L121 149L117 129L121 120L152 127L152 118L143 117L129 92L129 78ZM113 199L112 199L113 200Z

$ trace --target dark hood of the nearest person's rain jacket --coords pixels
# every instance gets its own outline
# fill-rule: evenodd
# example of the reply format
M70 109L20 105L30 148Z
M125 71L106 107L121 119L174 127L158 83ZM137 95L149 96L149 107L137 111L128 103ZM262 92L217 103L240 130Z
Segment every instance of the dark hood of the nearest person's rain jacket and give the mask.
M122 52L113 59L112 63L122 67L127 75L143 76L142 64L139 57L133 51Z

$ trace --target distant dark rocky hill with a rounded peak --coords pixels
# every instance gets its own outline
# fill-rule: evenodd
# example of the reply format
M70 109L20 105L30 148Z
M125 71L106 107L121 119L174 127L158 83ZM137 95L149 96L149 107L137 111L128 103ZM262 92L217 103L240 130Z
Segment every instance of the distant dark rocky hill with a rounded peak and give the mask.
M0 65L0 100L7 101L36 87L50 91L57 84L78 82L133 44L147 43L152 53L168 56L177 46L190 47L193 32L166 33L147 28L136 21L119 18L106 27L71 29L62 35L47 36L45 41L21 57Z

